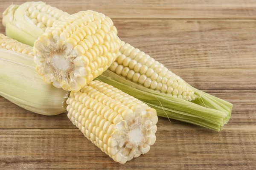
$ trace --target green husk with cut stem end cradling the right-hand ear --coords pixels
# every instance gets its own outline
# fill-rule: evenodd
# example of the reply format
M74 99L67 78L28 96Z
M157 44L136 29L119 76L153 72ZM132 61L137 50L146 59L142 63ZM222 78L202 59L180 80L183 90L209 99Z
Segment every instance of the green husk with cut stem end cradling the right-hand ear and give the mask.
M182 122L200 125L220 131L230 119L232 104L194 88L200 97L189 102L138 85L109 70L103 72L99 81L108 83L123 92L145 102L157 110L157 115Z

